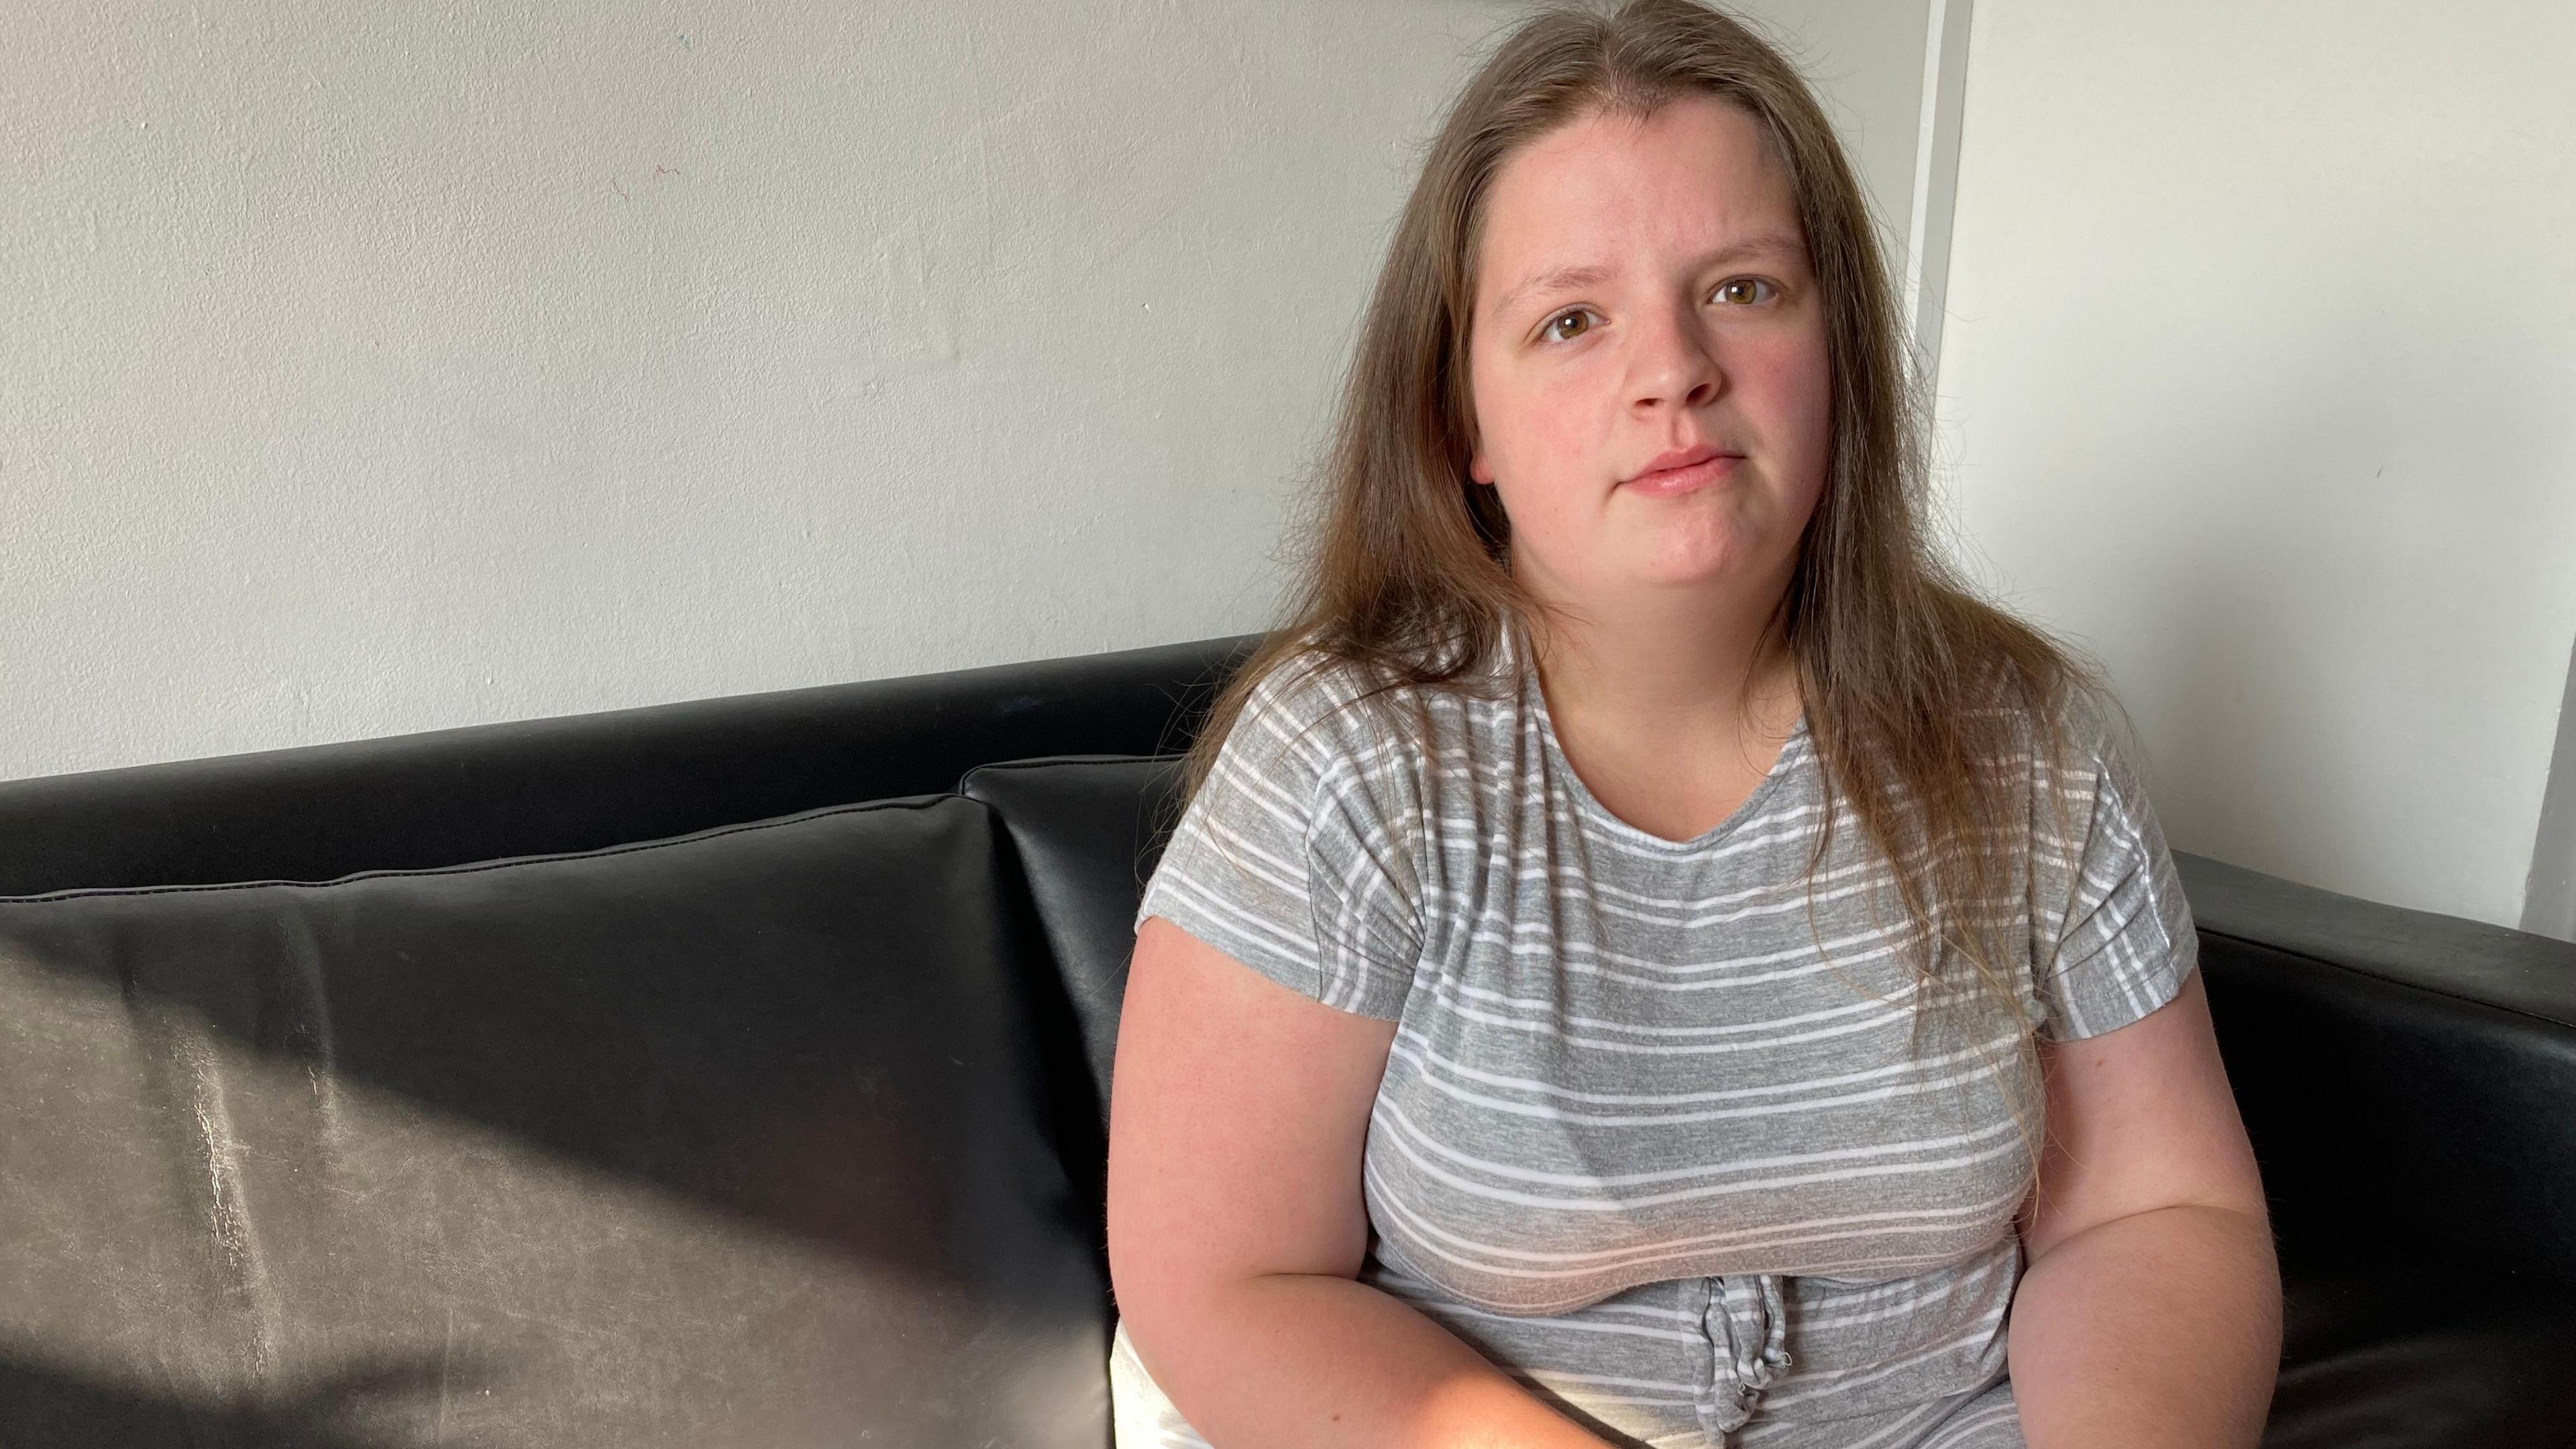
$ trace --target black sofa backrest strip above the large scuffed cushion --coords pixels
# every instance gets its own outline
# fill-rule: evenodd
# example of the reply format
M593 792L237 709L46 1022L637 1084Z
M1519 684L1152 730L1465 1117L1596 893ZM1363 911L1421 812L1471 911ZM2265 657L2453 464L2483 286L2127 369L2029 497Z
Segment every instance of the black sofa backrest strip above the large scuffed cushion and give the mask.
M592 851L1188 748L1260 634L0 781L0 895Z

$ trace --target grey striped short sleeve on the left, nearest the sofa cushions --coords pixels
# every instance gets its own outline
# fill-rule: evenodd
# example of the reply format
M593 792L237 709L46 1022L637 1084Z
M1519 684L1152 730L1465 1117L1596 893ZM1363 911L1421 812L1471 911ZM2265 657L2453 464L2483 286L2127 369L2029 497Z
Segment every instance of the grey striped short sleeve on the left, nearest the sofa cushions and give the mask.
M1396 1021L1422 926L1388 784L1401 750L1340 670L1265 676L1136 908L1324 1006Z

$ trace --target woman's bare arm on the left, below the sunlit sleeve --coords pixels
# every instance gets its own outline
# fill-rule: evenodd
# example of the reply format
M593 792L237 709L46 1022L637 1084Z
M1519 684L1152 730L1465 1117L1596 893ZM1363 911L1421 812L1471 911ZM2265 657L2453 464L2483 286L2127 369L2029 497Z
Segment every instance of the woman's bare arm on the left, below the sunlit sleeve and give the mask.
M1605 1449L1409 1302L1358 1281L1360 1152L1396 1024L1154 915L1110 1073L1110 1284L1218 1449Z

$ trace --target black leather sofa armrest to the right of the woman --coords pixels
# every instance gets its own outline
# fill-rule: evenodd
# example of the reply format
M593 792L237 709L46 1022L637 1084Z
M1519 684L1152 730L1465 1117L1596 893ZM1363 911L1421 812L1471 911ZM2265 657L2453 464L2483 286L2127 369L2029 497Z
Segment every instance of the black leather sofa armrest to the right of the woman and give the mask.
M2576 1287L2576 946L2174 861L2282 1256Z

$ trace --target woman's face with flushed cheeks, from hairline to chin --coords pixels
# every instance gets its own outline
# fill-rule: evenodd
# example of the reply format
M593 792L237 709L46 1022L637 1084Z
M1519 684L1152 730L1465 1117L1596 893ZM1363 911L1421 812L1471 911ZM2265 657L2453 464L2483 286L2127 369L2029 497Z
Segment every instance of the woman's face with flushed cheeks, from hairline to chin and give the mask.
M1824 490L1832 371L1759 124L1687 98L1515 152L1486 199L1468 376L1468 474L1499 490L1540 598L1685 588L1767 614Z

